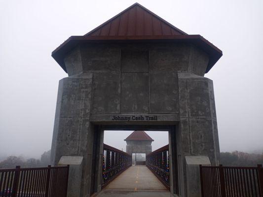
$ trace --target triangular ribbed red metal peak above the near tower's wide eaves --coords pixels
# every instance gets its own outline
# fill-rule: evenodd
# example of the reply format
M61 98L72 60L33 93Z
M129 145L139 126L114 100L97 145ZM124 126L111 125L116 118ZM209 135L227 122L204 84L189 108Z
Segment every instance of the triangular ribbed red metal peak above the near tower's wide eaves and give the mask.
M187 35L139 3L134 3L85 35Z

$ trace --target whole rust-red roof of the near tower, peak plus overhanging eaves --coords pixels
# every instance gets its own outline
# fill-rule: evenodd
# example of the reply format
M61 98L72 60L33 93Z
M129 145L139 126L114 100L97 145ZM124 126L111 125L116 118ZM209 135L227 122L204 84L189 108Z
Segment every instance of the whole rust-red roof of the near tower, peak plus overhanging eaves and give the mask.
M186 42L196 45L209 55L206 73L223 55L219 48L201 35L188 35L139 3L135 3L89 33L70 36L52 52L52 57L67 72L64 58L79 44L153 41Z

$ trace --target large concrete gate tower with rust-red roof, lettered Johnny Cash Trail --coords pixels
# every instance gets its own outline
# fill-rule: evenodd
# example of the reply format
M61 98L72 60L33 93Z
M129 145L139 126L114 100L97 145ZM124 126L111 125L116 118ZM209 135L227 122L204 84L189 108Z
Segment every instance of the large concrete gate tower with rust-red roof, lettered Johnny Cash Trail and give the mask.
M204 74L221 56L138 3L54 50L69 76L59 82L51 158L73 158L68 196L101 190L103 131L118 129L168 131L171 194L199 197L198 164L219 164L213 82Z

